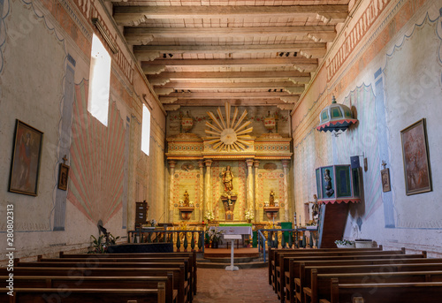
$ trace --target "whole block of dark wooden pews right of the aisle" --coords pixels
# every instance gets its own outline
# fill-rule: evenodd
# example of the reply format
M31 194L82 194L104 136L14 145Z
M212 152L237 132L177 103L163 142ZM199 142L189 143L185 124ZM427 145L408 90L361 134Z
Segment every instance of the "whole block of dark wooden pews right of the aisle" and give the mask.
M271 249L269 284L281 303L438 302L442 259L382 246Z

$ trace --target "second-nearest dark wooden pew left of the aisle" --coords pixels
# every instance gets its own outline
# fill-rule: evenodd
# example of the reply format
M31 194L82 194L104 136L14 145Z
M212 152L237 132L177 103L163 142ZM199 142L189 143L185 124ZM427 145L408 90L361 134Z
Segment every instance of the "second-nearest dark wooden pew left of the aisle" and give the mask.
M9 276L0 276L7 280ZM14 288L90 288L90 289L156 289L164 284L166 303L177 301L178 291L173 290L173 275L167 276L14 276Z

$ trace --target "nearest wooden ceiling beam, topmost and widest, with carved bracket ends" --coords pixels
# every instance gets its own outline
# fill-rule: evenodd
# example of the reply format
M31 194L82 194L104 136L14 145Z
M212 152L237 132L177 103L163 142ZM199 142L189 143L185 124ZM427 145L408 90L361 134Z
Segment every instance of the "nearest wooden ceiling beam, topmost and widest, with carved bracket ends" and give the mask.
M347 18L348 5L143 5L115 6L113 11L113 17L120 26L139 25L146 19L271 19L299 16L317 18L330 23Z

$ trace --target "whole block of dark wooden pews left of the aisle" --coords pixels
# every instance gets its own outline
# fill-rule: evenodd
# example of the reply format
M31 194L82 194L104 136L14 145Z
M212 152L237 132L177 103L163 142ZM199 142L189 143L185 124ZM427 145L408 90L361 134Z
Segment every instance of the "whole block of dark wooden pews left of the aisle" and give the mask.
M191 303L196 294L195 253L64 254L14 260L13 294L0 302ZM0 269L0 279L10 272Z

